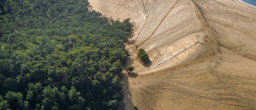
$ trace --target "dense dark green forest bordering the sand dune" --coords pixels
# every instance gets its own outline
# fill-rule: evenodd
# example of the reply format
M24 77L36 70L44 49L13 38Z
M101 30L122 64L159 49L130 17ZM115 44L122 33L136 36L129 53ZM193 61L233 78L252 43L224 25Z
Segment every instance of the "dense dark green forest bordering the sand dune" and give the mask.
M0 0L0 110L116 110L129 19L88 0Z

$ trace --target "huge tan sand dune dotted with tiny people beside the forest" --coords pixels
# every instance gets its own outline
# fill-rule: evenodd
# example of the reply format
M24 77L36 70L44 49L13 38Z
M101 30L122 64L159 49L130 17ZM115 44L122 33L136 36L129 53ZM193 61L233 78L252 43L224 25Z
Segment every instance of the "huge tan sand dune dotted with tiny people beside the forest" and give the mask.
M126 110L256 109L256 8L236 0L89 2L103 15L134 22L126 49L138 75L124 78ZM150 64L139 62L138 48Z

